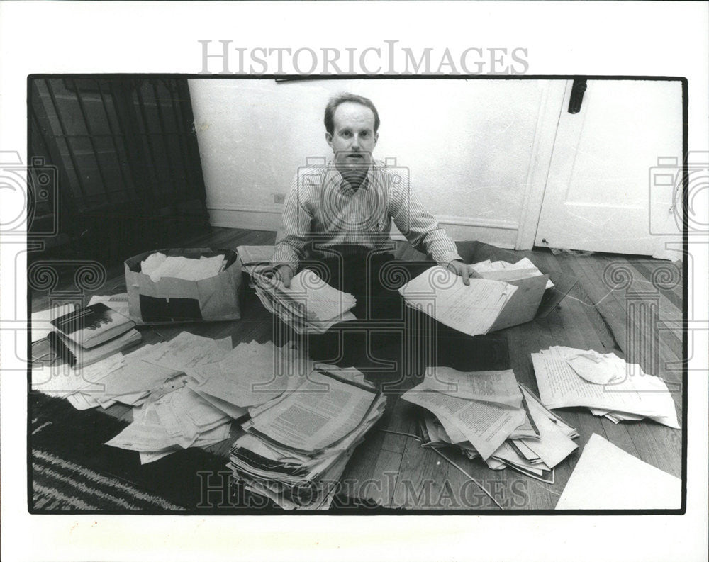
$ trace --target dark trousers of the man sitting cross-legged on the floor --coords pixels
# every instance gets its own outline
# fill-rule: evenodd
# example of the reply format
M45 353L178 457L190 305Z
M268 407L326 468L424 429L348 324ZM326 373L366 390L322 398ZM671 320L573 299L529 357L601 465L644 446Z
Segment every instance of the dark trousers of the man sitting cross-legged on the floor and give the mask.
M311 358L407 379L435 365L460 371L508 369L504 334L471 337L404 304L397 289L432 265L401 262L389 252L351 249L304 264L357 299L352 309L356 321L308 335Z

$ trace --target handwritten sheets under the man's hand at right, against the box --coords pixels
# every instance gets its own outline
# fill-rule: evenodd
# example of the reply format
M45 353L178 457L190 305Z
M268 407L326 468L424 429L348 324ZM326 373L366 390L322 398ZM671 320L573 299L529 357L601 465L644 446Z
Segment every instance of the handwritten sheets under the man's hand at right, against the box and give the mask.
M517 287L493 279L470 279L466 285L462 277L434 266L398 291L411 308L474 336L493 327Z

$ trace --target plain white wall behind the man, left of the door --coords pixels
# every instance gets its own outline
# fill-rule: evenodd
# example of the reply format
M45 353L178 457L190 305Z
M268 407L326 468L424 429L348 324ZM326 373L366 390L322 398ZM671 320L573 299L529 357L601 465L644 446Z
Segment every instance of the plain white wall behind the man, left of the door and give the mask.
M191 79L211 222L276 230L283 206L273 194L286 193L309 157L331 156L325 104L333 94L352 91L379 110L374 157L408 167L412 189L454 239L513 247L535 135L549 125L540 125L547 86L532 80ZM553 109L547 121L558 117Z

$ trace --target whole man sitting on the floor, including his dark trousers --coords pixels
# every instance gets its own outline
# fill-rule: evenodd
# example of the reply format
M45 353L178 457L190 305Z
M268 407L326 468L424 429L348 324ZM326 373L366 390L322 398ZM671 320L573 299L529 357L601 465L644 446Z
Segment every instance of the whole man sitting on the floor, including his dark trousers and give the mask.
M341 94L330 100L325 140L333 161L296 175L272 262L275 278L286 287L304 260L306 266L325 266L326 281L357 298L354 315L359 320L401 317L396 286L382 279L393 261L386 253L393 248L392 220L413 247L462 276L466 285L469 277L478 276L406 179L372 159L378 130L379 113L369 99Z

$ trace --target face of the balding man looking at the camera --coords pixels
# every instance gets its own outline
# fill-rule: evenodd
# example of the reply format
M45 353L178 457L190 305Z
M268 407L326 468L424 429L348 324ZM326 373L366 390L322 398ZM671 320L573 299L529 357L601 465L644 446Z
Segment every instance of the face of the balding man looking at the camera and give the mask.
M367 170L379 137L374 133L374 113L353 101L340 103L333 116L334 131L325 133L340 172Z

